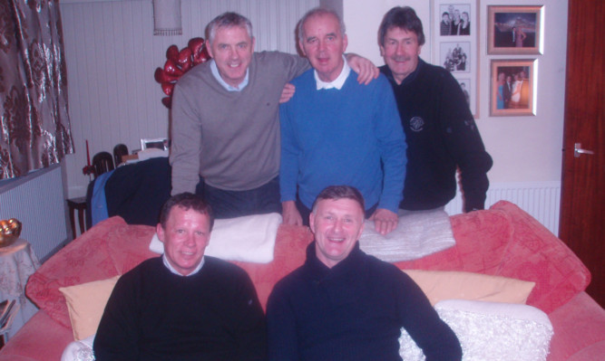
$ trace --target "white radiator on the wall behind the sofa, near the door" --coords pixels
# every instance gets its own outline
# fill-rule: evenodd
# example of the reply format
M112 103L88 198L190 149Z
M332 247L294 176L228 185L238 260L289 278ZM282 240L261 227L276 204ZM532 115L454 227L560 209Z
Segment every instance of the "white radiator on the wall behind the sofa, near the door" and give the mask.
M498 201L505 200L517 204L523 211L531 214L551 233L559 234L559 215L561 211L561 182L516 182L494 183L490 185L485 200L485 208ZM447 214L460 214L463 199L460 192L447 205Z

